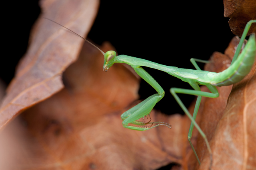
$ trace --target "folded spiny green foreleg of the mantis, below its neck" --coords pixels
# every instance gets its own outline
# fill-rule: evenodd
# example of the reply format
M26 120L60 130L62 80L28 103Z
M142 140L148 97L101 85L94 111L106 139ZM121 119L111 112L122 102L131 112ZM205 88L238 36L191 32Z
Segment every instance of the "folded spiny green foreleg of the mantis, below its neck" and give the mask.
M155 125L153 127L141 127L143 125L147 124L153 124L151 122L143 123L138 121L141 117L144 117L150 113L150 111L153 109L153 107L156 105L157 102L159 102L163 97L164 97L164 90L162 87L146 72L143 68L141 67L136 67L132 66L136 73L142 77L148 84L150 84L157 92L158 94L154 94L150 97L148 97L146 100L141 102L140 104L132 107L128 111L124 112L121 115L121 118L123 120L123 126L128 128L128 129L133 129L133 130L138 130L138 131L146 131L148 129L151 129L153 127L159 126L159 125L165 125L170 128L170 125L167 123L163 122L153 122L153 123L158 123L158 125ZM151 118L150 118L151 119ZM132 123L134 125L140 125L140 127L134 127L134 126L129 126L128 124Z

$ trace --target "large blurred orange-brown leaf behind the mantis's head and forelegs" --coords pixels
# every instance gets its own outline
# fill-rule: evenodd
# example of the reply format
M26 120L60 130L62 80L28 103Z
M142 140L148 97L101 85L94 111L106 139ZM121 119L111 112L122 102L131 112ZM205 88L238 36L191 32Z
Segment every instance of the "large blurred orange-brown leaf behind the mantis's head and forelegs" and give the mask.
M113 47L105 44L101 49ZM108 72L102 66L102 54L85 43L78 61L64 72L65 88L4 129L7 137L2 136L1 143L10 153L4 159L10 168L150 170L181 163L183 118L172 116L175 130L125 129L120 115L138 98L139 79L123 64L114 64ZM151 117L168 119L154 112Z

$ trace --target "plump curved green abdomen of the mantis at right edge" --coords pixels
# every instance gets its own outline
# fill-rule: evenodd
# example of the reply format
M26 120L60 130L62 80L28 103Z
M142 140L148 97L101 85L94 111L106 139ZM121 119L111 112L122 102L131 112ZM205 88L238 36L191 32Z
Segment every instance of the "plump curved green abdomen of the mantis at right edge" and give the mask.
M210 84L228 86L240 82L251 70L256 55L255 34L250 35L238 59L226 70L217 73Z

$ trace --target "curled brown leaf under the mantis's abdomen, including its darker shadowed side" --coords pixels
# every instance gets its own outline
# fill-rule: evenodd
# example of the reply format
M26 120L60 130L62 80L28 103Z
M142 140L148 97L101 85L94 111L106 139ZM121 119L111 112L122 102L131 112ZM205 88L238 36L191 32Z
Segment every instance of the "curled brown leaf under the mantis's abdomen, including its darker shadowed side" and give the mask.
M213 62L215 64L213 67L207 64L206 70L214 71L212 68L217 68L218 71L215 71L220 72L225 67L227 68L231 62L229 57L234 55L236 49L234 47L237 47L238 43L238 37L234 37L226 49L225 55L214 53L213 59L220 59L216 60L218 63ZM222 64L224 64L223 68L217 67L217 65ZM202 113L198 112L201 115L200 127L210 141L210 147L213 151L213 170L245 170L256 167L253 163L256 159L256 146L253 141L256 138L255 128L253 128L253 122L256 120L255 68L254 63L251 72L241 82L234 84L229 97L232 86L219 87L220 97L207 98L202 103L204 111ZM208 169L210 164L209 154L200 135L198 136L196 152L202 160L199 169ZM198 163L196 163L194 156L190 159L196 164L195 169L198 169Z

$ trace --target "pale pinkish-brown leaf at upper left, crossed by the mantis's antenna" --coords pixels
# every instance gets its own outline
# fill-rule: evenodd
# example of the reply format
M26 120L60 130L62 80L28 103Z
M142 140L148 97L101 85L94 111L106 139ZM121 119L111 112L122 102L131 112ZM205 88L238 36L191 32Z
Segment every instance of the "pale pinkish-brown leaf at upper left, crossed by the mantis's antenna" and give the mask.
M99 5L98 0L44 0L40 3L44 14L34 25L29 50L8 86L0 108L0 128L24 109L60 91L62 72L79 55L83 40L59 30L59 25L42 17L62 23L83 36L90 30Z

